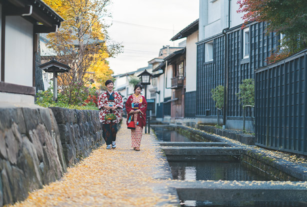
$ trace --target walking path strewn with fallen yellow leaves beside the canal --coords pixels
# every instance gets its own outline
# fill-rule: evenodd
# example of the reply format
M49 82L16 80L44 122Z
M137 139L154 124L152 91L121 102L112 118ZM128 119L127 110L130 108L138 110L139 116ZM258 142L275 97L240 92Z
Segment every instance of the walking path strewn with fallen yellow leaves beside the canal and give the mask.
M134 151L123 122L115 149L101 146L59 181L14 206L178 206L165 184L166 158L154 142L154 135L143 133L141 150Z

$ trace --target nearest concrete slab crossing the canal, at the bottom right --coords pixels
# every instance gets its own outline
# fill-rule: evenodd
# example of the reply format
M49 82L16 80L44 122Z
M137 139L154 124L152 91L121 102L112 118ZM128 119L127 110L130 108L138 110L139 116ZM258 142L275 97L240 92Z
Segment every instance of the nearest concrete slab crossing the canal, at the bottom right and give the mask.
M307 204L307 182L284 181L227 181L227 180L172 180L181 200L209 200L214 204L246 206L245 204ZM282 205L283 206L283 205Z

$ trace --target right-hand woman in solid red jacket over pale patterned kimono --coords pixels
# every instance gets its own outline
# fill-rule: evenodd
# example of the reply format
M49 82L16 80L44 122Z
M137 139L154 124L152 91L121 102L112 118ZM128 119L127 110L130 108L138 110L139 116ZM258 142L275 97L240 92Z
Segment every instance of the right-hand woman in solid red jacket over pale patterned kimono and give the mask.
M132 116L135 124L135 129L131 129L131 147L135 151L139 151L140 140L142 138L143 126L146 125L146 110L147 101L143 95L140 94L142 86L136 84L134 86L134 93L130 95L126 101L127 111L127 125L129 124L129 117Z

